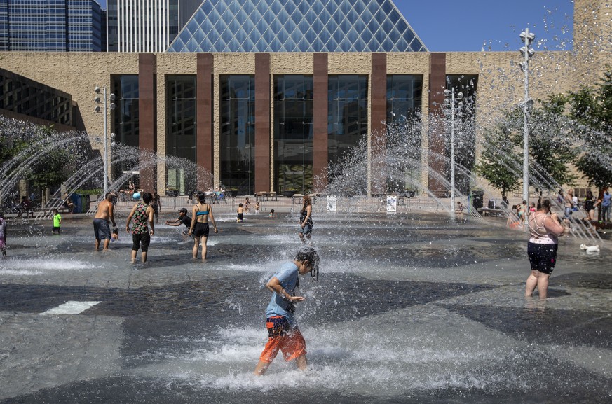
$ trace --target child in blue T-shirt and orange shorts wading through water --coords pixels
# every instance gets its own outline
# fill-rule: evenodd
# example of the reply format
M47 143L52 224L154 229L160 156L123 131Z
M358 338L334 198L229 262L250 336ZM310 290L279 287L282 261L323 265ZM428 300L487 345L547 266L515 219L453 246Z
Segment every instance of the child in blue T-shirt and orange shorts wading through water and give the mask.
M254 374L264 375L278 351L283 352L285 361L295 361L297 368L306 370L306 342L297 326L295 304L304 297L297 293L298 275L311 274L313 281L319 279L319 254L311 246L303 246L293 259L285 263L266 283L272 298L266 309L268 343L259 356Z

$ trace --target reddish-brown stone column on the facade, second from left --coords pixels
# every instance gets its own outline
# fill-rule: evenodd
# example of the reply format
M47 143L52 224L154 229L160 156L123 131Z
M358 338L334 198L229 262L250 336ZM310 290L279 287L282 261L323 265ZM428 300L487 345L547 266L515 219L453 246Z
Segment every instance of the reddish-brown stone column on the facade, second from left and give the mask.
M196 76L196 164L198 190L212 186L214 162L212 136L212 71L211 53L198 53Z

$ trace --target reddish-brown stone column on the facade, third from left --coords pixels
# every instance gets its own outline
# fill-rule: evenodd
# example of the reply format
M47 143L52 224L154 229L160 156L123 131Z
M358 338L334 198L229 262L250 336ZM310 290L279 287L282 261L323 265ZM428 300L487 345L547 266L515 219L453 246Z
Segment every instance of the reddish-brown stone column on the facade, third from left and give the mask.
M270 192L270 54L255 54L255 189Z

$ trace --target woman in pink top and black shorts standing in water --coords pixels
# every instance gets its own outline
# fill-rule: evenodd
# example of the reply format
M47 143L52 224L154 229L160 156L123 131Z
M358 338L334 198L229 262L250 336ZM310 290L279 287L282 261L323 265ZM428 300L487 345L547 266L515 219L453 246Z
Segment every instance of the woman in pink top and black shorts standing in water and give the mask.
M529 217L529 242L527 255L531 265L531 274L527 278L525 297L533 295L538 287L540 299L548 297L548 278L557 263L558 237L564 234L565 228L559 223L557 214L550 214L550 200L542 201L542 207Z

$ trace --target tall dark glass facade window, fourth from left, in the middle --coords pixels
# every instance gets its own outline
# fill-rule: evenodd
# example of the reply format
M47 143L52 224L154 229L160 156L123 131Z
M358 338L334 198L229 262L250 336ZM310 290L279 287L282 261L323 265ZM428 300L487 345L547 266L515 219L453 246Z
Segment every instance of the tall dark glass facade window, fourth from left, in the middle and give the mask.
M313 190L313 77L274 78L276 192Z

